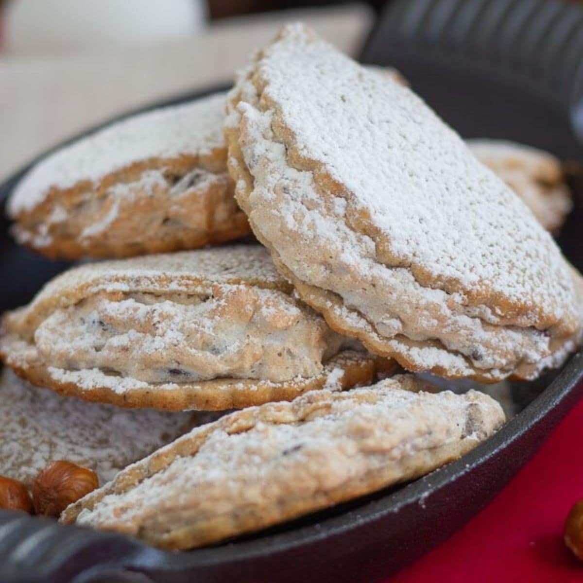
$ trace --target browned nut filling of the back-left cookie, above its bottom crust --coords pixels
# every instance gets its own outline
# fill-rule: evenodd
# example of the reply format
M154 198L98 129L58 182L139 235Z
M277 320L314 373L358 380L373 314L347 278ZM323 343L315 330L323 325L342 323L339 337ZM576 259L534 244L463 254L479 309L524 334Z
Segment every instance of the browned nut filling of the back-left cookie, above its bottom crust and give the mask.
M55 240L78 241L86 249L126 245L129 252L153 238L162 249L165 241L177 240L188 247L197 237L201 243L209 237L220 242L233 230L247 231L229 176L201 167L182 173L146 170L105 189L62 197L48 217L45 210L20 216L14 227L20 243L45 247Z

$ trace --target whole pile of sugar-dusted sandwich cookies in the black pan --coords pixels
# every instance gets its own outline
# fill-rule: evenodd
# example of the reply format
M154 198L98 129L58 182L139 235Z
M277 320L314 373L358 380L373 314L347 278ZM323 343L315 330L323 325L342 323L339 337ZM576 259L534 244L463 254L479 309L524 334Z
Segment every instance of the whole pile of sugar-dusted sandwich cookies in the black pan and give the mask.
M556 231L569 204L552 157L470 149L398 76L288 26L229 94L16 188L20 243L110 260L4 315L0 416L22 422L0 473L37 512L178 550L436 469L504 413L418 373L530 380L580 345L583 279L527 206Z

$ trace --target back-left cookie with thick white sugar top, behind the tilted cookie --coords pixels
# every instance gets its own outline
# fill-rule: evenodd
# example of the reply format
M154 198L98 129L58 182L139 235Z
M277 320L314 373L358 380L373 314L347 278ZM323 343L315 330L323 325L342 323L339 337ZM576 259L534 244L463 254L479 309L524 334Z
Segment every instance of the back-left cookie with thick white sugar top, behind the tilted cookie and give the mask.
M75 259L245 236L226 169L223 108L219 93L134 115L49 154L8 201L17 241Z

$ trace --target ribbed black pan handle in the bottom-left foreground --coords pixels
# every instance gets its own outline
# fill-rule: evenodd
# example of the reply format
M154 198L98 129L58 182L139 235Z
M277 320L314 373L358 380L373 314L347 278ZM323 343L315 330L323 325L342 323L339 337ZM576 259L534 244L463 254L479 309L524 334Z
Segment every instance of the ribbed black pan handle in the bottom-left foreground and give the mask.
M124 573L124 564L149 552L157 551L114 533L0 511L2 583L150 581L142 574ZM106 579L101 573L107 573ZM138 575L142 578L136 579Z

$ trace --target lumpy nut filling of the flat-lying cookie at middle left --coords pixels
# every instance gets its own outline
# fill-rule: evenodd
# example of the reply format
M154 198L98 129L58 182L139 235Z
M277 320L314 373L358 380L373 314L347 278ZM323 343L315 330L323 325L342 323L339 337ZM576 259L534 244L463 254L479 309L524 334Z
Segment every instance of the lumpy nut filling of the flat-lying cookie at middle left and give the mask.
M99 293L52 312L34 343L43 361L66 370L152 383L280 382L321 373L341 339L281 291L216 285L208 297Z

